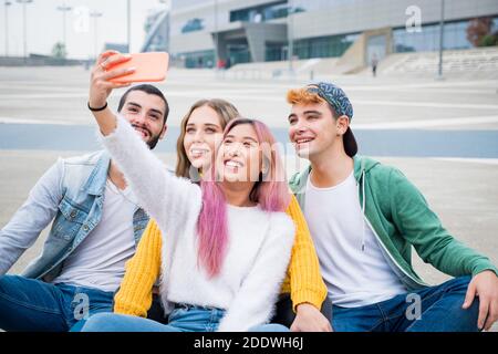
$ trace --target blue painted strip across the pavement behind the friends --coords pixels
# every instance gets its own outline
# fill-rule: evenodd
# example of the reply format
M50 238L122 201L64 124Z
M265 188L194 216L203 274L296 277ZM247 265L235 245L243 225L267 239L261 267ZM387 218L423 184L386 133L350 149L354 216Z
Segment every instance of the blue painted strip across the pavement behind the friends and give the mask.
M96 128L79 125L0 124L0 149L94 150L100 145ZM273 128L282 144L287 129ZM170 127L157 145L173 153L179 129ZM392 157L498 158L498 131L354 131L360 154Z

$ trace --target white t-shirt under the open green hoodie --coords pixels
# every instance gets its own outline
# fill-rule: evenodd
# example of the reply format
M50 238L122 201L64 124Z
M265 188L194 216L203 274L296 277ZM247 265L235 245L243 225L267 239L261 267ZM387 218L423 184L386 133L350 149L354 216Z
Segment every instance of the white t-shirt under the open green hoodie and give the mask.
M353 173L330 188L309 178L304 216L333 304L357 308L406 292L363 217Z

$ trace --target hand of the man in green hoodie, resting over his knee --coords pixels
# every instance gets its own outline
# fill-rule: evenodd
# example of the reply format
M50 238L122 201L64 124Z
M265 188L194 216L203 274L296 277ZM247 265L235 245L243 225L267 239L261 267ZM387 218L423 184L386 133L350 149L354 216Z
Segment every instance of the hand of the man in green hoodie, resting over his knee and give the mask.
M479 330L489 331L498 320L498 277L495 272L487 270L474 277L468 284L463 309L470 308L476 295L479 296L477 326Z

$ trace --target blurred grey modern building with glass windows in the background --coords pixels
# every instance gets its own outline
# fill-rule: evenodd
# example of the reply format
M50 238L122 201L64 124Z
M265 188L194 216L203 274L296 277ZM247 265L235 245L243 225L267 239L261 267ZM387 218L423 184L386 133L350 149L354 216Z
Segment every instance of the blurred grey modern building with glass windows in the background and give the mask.
M442 0L173 0L168 49L187 67L212 67L286 60L290 51L341 56L361 39L366 64L438 50L440 18ZM498 31L498 1L446 0L444 19L444 49L470 49L479 43L469 28Z

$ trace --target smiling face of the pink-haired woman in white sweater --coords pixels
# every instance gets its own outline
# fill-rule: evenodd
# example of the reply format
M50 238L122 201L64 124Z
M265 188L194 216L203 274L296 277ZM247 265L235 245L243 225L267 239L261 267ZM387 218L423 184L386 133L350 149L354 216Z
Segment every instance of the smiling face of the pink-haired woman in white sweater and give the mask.
M256 183L261 173L261 150L251 124L239 124L225 136L218 149L216 167L221 181Z

